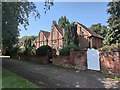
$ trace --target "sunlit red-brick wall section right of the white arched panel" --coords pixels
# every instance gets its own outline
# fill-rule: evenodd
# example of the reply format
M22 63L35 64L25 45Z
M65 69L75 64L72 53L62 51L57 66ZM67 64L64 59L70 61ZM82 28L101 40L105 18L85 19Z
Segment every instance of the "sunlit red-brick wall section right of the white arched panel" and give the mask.
M120 75L120 51L100 52L101 72Z

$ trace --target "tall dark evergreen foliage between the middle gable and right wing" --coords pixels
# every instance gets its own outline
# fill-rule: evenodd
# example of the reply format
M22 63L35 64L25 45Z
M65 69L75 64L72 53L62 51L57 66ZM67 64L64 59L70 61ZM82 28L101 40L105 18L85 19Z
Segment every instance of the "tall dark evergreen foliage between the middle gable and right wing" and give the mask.
M62 16L58 20L58 27L64 28L64 43L65 45L75 44L78 45L78 35L77 35L77 26L73 23L70 23L66 16Z

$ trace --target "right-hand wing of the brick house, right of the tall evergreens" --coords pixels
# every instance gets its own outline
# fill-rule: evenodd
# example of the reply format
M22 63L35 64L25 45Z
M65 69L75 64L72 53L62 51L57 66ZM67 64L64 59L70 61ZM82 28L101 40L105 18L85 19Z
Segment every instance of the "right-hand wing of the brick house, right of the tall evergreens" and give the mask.
M100 48L103 44L103 37L96 34L83 24L75 22L77 25L77 34L79 37L79 45L81 48Z

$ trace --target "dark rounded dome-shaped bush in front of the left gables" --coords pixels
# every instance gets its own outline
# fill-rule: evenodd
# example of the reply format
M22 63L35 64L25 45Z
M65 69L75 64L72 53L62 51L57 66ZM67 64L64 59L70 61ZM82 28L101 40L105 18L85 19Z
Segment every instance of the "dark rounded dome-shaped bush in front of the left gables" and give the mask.
M36 55L48 55L48 52L52 52L52 48L48 45L41 46L36 50Z

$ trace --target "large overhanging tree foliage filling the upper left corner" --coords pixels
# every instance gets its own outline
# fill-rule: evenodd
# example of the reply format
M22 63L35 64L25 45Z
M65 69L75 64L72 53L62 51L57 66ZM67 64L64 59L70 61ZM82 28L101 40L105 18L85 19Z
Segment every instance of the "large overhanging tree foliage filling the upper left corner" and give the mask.
M31 12L35 18L40 17L32 2L2 2L2 42L4 47L12 47L17 43L20 31L18 26L23 25L26 29Z

